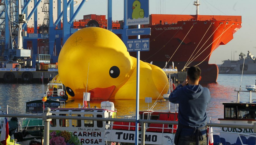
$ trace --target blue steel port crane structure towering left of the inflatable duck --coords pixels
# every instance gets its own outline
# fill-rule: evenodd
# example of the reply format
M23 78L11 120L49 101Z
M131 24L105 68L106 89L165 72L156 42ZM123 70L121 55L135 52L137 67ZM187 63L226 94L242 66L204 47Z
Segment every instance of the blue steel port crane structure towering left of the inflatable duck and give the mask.
M29 3L34 1L34 7L31 11L28 11ZM28 61L33 68L38 63L38 40L46 40L48 48L46 55L51 57L51 62L55 63L58 60L58 56L53 54L53 49L57 53L61 50L62 44L76 32L78 29L73 28L73 21L75 16L79 13L81 7L88 0L75 0L79 3L77 10L74 12L74 0L55 0L57 1L57 12L53 11L53 0L24 0L23 8L18 0L0 0L0 61ZM40 3L44 3L44 6L38 7ZM68 16L69 8L69 18ZM62 11L61 11L62 9ZM45 16L43 24L38 26L38 12L44 12ZM57 13L57 19L53 20L53 13ZM27 20L34 15L34 33L26 34ZM20 20L18 19L20 17ZM22 19L24 18L24 19ZM62 18L62 29L61 29ZM23 40L23 41L22 41ZM32 49L28 50L28 41L32 42ZM22 57L20 54L24 54L23 51L30 51L29 57ZM17 53L18 52L18 53ZM18 54L18 55L17 55Z

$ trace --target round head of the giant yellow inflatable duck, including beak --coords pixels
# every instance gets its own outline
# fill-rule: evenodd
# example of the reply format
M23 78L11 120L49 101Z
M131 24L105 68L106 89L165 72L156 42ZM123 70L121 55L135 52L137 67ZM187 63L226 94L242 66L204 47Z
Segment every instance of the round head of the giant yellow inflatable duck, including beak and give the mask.
M59 77L73 98L90 92L108 100L131 75L132 60L124 43L109 30L88 27L72 34L58 59Z

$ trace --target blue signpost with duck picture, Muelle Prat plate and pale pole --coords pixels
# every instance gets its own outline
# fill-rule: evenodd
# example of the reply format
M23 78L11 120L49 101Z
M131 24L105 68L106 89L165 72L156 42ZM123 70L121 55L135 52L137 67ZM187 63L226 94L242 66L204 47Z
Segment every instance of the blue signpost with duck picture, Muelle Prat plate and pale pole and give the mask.
M140 39L140 35L149 35L150 29L140 29L141 24L149 24L149 0L125 0L124 25L138 25L138 29L127 29L127 36L138 35L138 39L127 40L127 51L137 51L137 85L136 85L136 123L135 144L139 141L139 84L140 84L140 51L149 51L149 39ZM149 34L148 34L149 32Z

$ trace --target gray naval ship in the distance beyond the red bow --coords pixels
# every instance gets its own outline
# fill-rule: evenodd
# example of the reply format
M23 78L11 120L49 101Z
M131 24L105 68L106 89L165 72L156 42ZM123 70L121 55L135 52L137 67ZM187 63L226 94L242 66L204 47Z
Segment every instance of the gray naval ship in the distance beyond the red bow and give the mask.
M243 53L240 53L239 60L231 61L225 60L222 65L219 66L219 73L226 74L256 74L256 59L248 51L247 57ZM244 64L243 64L244 62Z

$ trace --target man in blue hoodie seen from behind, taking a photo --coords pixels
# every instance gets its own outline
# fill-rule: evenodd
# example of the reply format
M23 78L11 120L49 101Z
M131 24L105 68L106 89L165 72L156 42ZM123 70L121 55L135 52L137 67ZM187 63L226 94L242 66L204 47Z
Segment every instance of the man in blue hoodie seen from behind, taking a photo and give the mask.
M187 78L170 94L169 101L179 104L176 145L206 145L206 108L210 102L210 91L199 84L201 69L189 67Z

